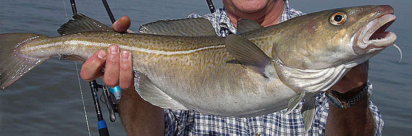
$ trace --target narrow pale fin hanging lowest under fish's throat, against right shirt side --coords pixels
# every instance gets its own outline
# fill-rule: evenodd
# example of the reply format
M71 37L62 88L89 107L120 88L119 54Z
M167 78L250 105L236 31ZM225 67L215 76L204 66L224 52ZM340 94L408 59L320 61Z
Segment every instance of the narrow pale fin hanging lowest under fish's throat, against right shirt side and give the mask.
M306 133L308 133L310 126L312 126L313 124L316 96L317 96L316 94L308 94L305 97L306 100L301 109L301 114L304 115L304 124L305 124Z

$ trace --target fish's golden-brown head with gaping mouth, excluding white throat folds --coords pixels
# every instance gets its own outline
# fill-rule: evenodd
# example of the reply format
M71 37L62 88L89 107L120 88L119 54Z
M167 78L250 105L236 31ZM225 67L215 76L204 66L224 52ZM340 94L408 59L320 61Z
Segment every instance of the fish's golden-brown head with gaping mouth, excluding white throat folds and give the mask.
M395 21L390 5L364 5L325 10L290 19L281 42L275 42L273 58L299 69L356 66L396 40L385 31Z

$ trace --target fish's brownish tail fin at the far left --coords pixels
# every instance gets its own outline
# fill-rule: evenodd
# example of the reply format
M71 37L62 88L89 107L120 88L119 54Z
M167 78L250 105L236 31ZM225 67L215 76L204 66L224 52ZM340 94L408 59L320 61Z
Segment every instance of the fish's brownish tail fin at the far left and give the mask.
M46 60L27 57L18 51L19 46L41 37L45 36L34 33L0 34L0 90L10 86L23 74Z

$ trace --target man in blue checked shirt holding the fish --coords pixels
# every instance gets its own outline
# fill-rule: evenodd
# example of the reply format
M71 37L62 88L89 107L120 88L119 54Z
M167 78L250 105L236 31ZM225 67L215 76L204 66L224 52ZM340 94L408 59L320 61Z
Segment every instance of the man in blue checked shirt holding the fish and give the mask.
M225 9L215 13L190 17L205 17L211 21L218 36L236 33L240 18L251 19L263 27L275 25L303 15L290 8L287 0L223 0ZM338 18L339 21L339 18ZM115 31L124 32L130 27L127 16L112 25ZM286 30L288 31L288 30ZM111 45L107 51L93 54L82 66L85 80L104 78L108 86L124 89L119 109L128 135L305 135L304 120L299 115L301 107L284 115L286 110L253 118L230 118L205 115L196 111L174 111L153 106L140 98L133 87L132 59L129 51L119 51ZM102 68L105 68L102 72ZM330 90L332 98L354 100L356 103L341 108L328 103L326 92L316 98L312 135L380 135L383 121L378 109L370 103L366 91L371 91L367 81L368 64L360 64L337 82ZM339 106L339 105L338 105ZM299 110L299 111L298 111ZM296 113L296 114L295 114ZM327 119L327 120L326 120Z

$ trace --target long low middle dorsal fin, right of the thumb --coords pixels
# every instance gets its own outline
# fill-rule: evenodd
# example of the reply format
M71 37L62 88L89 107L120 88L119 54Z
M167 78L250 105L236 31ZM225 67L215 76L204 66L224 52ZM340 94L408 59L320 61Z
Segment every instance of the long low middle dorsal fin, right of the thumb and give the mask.
M206 18L185 18L147 23L141 25L139 33L163 36L216 36L213 26Z

